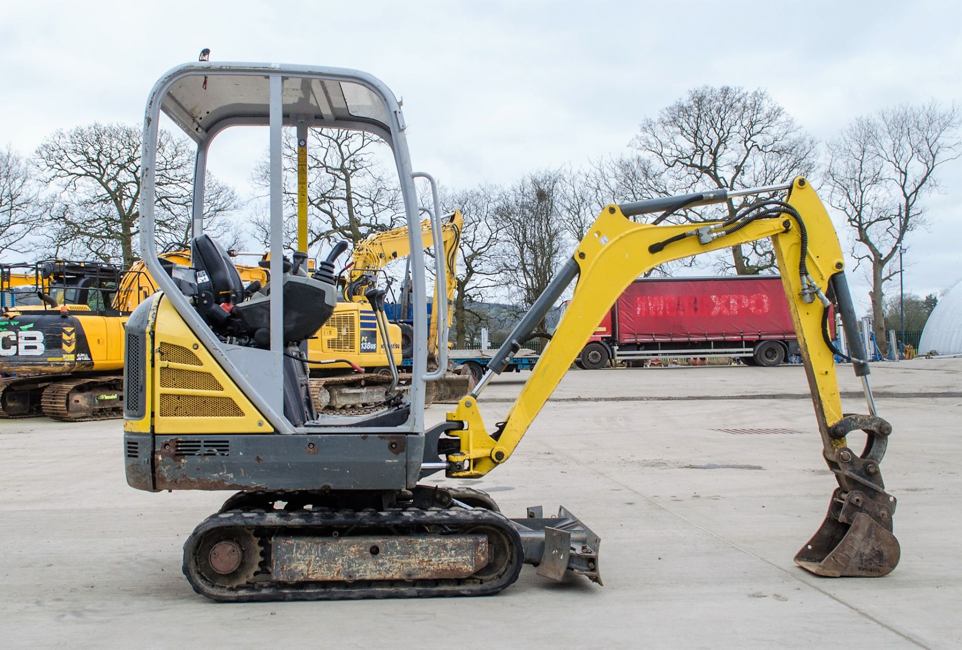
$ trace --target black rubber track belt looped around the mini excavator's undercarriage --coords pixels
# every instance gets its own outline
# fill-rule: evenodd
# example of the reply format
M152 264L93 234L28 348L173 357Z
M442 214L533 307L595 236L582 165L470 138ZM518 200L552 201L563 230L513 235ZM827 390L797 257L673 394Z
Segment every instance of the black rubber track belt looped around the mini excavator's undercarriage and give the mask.
M207 582L196 572L193 554L201 538L219 528L245 528L262 539L262 557L269 556L265 539L283 532L285 535L325 534L339 529L350 535L364 535L366 528L374 528L383 535L386 527L408 529L421 533L428 526L468 529L490 526L504 531L514 545L513 563L499 575L478 579L444 579L418 581L357 581L305 582L299 585L272 584L258 579L241 587L220 587ZM455 534L457 530L454 531ZM360 598L428 598L437 596L480 596L497 593L518 580L524 562L524 549L518 531L510 520L497 512L483 509L464 510L407 510L389 511L231 511L212 514L194 529L184 544L184 575L197 593L220 602L292 601L292 600L351 600ZM268 561L269 563L269 561Z

